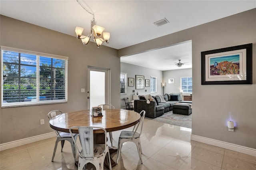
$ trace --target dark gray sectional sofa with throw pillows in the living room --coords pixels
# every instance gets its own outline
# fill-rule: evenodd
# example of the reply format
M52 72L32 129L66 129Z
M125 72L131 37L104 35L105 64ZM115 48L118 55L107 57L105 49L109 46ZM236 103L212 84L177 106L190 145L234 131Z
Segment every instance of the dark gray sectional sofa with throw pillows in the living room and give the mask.
M146 117L149 118L156 118L161 115L163 115L166 112L172 111L172 106L174 103L181 102L181 100L178 100L174 97L174 99L177 99L173 101L171 99L171 94L164 94L162 95L164 97L164 100L167 103L161 102L161 99L159 96L152 96L154 98L154 101L150 101L150 104L146 103L146 99L144 96L140 96L139 100L134 100L134 111L140 113L142 110L146 111ZM182 101L182 103L192 103L191 101Z

